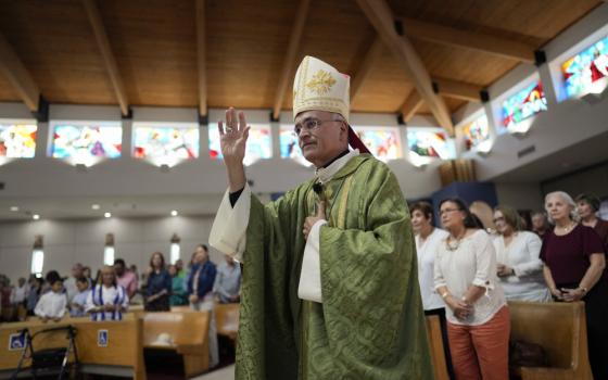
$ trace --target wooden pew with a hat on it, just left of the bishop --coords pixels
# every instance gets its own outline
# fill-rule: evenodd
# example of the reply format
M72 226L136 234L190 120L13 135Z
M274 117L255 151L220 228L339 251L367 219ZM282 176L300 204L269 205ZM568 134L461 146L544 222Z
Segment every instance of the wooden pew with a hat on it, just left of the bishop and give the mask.
M208 370L208 312L162 312L143 315L143 347L175 351L183 357L186 378ZM170 341L159 344L159 337Z

